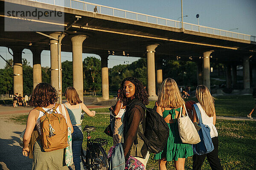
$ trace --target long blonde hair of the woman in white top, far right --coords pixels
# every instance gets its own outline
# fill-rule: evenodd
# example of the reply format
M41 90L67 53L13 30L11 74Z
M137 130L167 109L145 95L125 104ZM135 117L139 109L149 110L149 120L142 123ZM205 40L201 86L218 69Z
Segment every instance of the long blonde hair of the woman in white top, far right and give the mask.
M209 89L205 85L198 85L195 91L195 96L205 113L209 117L212 117L215 113L214 97L210 94Z

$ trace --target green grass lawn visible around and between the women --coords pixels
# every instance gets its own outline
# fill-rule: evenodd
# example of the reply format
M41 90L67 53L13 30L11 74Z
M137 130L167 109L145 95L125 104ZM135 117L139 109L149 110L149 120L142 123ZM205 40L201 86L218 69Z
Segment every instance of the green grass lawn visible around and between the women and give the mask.
M16 123L26 123L27 115L12 118ZM113 145L113 139L103 131L109 124L109 116L97 114L95 117L85 116L82 125L96 127L92 132L93 138L99 137L108 140L107 151ZM256 167L256 122L254 121L230 121L220 120L216 122L219 139L219 158L224 170L254 170ZM83 147L86 145L86 133L84 133ZM158 162L153 159L153 154L148 161L147 169L158 170ZM168 162L168 169L175 170L174 162ZM185 169L192 170L192 157L185 161ZM209 163L204 162L203 170L211 170Z

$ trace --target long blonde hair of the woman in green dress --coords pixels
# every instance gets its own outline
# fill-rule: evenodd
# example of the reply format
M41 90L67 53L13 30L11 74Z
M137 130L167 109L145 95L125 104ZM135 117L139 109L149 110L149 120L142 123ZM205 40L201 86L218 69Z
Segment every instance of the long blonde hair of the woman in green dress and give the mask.
M174 79L167 78L163 81L157 99L161 108L180 108L184 100Z

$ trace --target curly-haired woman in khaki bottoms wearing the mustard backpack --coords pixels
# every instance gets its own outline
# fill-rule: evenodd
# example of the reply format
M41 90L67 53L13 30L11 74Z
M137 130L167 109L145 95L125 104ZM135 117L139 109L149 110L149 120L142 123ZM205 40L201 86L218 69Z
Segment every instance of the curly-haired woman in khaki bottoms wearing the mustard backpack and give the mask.
M47 111L53 108L58 101L58 93L52 85L42 82L35 86L35 89L32 92L29 105L34 107L41 107L44 111ZM67 120L67 126L71 128L73 133L73 126L70 121L70 117L67 114L67 109L62 111L61 105L56 108L57 113L62 114ZM66 112L66 114L64 114ZM40 118L44 116L42 111L32 109L29 112L29 116L26 123L26 131L23 136L23 156L28 156L29 152L33 152L33 163L32 170L68 170L68 167L65 163L65 153L64 149L53 150L50 152L44 152L40 139L38 139L33 150L29 150L28 144L31 138L32 131L34 127L38 130L38 135L41 135L40 129Z

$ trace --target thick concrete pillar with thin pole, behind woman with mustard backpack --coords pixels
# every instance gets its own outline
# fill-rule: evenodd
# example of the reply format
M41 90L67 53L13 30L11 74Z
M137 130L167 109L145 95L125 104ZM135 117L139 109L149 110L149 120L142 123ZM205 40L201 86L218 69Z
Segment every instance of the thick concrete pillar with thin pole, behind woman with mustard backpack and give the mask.
M65 34L61 34L60 32L54 32L50 34L50 36L57 38L60 36L59 43L57 40L50 40L50 48L51 48L51 84L60 94L60 102L62 103L62 74L61 74L61 40L65 37ZM60 61L58 61L58 54L60 55ZM60 83L61 88L59 89L58 84L58 64L60 65Z

